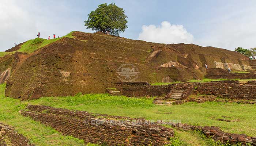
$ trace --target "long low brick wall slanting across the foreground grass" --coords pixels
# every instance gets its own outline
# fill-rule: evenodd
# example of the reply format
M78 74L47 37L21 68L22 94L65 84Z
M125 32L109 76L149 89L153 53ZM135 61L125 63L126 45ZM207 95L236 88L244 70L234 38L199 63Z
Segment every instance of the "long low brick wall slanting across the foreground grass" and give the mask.
M23 110L20 113L65 135L83 139L86 143L105 143L111 146L162 146L174 135L173 129L156 123L146 124L145 119L93 114L41 105L27 105L27 109L29 111ZM133 120L140 120L142 123L133 123Z

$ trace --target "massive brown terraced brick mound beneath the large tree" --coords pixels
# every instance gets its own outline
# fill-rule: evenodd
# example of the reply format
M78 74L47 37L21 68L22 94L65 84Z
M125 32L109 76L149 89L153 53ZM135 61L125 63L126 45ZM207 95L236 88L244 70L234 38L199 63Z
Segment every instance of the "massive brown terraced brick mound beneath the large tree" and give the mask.
M136 81L150 83L166 77L174 81L202 79L204 64L214 68L214 61L249 65L249 58L225 49L165 45L78 31L68 37L39 40L36 45L31 42L33 47L24 47L25 42L18 50L6 52L12 55L0 58L1 72L11 68L6 96L37 99L105 93L120 80L117 70L124 64L138 68Z

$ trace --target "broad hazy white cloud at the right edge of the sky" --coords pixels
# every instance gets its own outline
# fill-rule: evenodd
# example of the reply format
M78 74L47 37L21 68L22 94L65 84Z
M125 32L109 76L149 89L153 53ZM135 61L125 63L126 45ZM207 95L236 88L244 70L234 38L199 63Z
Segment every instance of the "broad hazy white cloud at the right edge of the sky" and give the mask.
M234 50L240 46L246 49L256 46L255 8L246 8L230 12L217 18L211 18L204 24L206 35L200 35L195 43L201 46L214 46Z

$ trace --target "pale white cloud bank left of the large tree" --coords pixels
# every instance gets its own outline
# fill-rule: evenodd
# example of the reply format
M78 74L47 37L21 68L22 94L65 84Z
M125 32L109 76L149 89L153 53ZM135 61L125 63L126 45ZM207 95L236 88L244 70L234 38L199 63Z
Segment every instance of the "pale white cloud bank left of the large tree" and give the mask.
M63 36L70 31L85 31L83 13L64 0L0 0L0 51L37 37ZM75 15L76 14L76 15ZM84 14L84 16L86 16ZM77 16L79 15L79 16Z

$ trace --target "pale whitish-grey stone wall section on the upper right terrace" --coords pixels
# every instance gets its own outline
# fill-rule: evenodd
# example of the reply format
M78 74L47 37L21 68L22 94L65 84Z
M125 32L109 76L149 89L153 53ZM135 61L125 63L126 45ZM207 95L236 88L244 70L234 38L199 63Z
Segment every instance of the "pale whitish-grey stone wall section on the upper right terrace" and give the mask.
M215 68L221 68L221 69L225 69L227 70L228 68L230 68L231 70L251 70L251 66L247 66L247 65L242 65L242 64L231 64L231 63L222 63L222 62L217 62L214 61L214 66Z

